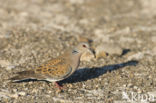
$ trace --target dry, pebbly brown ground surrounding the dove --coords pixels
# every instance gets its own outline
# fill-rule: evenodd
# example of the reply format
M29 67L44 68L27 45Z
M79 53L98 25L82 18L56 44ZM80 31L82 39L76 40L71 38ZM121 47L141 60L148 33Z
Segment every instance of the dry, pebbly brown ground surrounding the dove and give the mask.
M101 54L82 59L62 91L7 80L81 41ZM155 0L0 0L0 103L143 101L156 101Z

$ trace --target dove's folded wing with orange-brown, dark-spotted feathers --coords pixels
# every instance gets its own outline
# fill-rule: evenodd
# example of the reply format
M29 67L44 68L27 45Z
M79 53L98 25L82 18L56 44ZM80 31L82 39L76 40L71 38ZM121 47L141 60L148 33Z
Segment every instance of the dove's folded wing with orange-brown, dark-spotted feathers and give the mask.
M66 62L66 59L56 58L35 69L36 74L41 74L45 78L62 80L70 76L72 67Z

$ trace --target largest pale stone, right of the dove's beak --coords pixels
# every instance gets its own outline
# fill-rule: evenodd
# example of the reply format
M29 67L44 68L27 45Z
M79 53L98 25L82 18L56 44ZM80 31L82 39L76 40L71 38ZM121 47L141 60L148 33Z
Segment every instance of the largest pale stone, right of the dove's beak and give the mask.
M96 52L96 57L105 57L108 54L113 55L121 55L122 54L122 48L120 48L119 46L113 45L113 44L109 44L109 43L103 43L99 46L97 46L97 48L95 48L95 52Z

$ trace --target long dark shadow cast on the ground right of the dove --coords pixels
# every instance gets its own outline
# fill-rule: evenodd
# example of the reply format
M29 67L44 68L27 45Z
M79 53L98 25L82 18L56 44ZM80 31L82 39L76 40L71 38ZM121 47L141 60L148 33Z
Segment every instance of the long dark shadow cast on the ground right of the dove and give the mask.
M138 63L139 62L136 60L131 60L120 64L111 64L102 67L79 69L69 78L62 80L59 83L65 84L65 83L76 83L76 82L87 81L89 79L97 78L100 75L105 74L107 71L111 72L126 66L136 66Z

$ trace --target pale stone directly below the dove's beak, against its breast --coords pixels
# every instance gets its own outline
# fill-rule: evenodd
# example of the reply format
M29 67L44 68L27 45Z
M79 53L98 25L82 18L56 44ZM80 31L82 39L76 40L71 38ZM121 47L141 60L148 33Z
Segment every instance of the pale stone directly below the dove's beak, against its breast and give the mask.
M94 58L95 58L94 54L88 50L87 52L82 54L80 60L81 61L90 61L91 59L94 59Z

